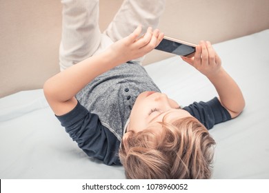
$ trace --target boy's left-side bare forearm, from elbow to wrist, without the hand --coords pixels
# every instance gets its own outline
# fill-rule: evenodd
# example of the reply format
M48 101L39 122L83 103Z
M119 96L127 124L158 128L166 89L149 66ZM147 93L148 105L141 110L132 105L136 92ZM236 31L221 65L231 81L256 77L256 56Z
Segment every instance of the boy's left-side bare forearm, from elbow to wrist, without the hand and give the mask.
M48 79L44 92L48 100L65 102L75 96L92 79L118 65L108 51L73 65Z

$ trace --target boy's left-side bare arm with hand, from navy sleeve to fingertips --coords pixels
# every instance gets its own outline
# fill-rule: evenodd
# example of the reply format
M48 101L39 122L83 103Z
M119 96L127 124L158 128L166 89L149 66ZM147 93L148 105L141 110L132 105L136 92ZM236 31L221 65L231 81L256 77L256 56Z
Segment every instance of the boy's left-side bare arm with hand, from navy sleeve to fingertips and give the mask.
M128 37L113 43L105 52L72 65L48 79L43 91L54 113L62 115L70 112L77 105L74 96L92 79L121 63L142 57L163 38L163 33L159 33L159 30L152 32L152 28L148 28L146 34L138 39L140 33L139 26Z

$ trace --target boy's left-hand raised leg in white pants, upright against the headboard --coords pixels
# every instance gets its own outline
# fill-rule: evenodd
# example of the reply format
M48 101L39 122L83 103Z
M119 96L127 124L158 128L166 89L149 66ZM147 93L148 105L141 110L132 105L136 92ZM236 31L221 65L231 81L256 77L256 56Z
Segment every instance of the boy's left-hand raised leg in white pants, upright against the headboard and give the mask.
M99 0L61 0L63 24L59 49L60 68L86 59L101 41Z

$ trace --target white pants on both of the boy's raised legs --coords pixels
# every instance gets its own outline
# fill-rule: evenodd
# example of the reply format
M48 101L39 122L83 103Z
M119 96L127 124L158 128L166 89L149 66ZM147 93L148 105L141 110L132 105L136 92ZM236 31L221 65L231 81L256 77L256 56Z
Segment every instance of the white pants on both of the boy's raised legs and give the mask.
M61 0L63 26L59 50L60 68L102 52L114 41L132 33L137 26L143 33L157 28L166 0L125 0L108 28L99 29L99 0ZM137 59L141 62L141 59Z

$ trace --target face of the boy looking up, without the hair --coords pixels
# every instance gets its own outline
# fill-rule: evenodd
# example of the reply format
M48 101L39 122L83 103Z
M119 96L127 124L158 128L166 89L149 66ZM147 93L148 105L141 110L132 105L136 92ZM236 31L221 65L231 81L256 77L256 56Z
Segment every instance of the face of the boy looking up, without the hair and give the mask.
M168 116L166 116L167 114ZM176 101L169 99L166 94L151 91L142 92L132 107L127 131L145 130L149 126L163 121L163 116L166 116L166 120L170 122L173 119L181 119L191 115L188 111L181 109Z

